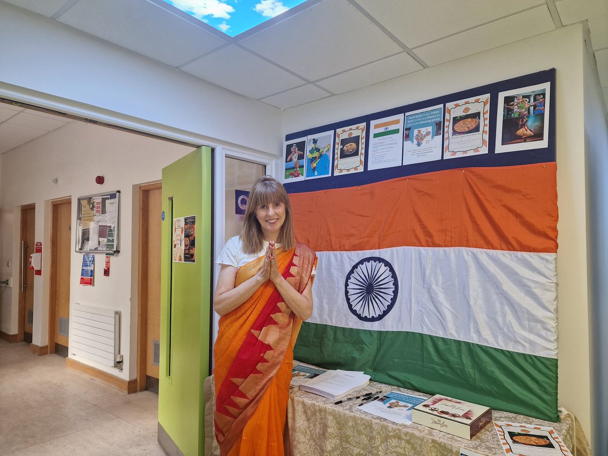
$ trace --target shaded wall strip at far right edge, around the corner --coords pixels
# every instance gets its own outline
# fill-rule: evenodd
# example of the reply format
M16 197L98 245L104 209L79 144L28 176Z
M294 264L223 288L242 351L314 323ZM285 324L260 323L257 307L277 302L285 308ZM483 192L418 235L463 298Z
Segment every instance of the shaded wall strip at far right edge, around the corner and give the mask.
M608 451L608 122L593 54L583 53L585 153L587 159L587 252L592 330L592 426L595 454Z

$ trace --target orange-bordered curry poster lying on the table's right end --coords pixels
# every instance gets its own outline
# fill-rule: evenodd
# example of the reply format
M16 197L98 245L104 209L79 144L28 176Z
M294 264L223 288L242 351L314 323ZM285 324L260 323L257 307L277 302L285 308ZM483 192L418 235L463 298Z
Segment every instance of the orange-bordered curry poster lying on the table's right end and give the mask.
M572 456L553 427L494 421L506 455Z

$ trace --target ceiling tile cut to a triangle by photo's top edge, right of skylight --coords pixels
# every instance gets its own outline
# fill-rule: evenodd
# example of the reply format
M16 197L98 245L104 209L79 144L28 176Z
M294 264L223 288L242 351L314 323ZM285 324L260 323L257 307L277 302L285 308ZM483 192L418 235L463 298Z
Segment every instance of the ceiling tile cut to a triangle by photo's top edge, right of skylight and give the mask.
M544 5L544 0L357 0L373 18L408 47L494 21L523 9Z

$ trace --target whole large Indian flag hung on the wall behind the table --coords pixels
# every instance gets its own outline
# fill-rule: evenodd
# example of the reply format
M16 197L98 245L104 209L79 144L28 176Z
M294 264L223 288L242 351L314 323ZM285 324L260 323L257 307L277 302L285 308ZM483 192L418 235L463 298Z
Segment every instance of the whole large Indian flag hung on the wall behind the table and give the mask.
M290 199L319 256L296 359L558 420L554 162Z

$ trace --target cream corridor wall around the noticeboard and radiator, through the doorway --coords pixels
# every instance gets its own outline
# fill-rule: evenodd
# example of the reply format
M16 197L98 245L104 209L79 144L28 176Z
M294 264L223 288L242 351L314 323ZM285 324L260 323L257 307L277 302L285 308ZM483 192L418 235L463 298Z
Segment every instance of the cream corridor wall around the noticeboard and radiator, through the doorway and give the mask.
M33 343L47 344L48 294L50 266L50 201L72 198L72 221L76 219L78 196L120 190L120 253L111 259L109 277L103 277L104 255L95 255L95 285L80 285L82 254L72 251L70 303L82 303L120 310L121 349L125 368L104 368L92 361L85 364L108 371L123 379L135 378L137 293L133 290L131 264L137 264L137 246L132 233L137 230L137 212L133 215L133 185L160 181L162 168L192 151L176 145L83 122L71 122L21 147L2 154L0 174L0 258L3 275L18 280L19 206L36 204L35 241L43 243L43 275L34 280ZM105 176L105 184L95 184L95 176ZM53 178L59 178L57 185ZM75 230L72 230L72 246ZM11 241L13 244L11 244ZM132 248L133 247L133 248ZM6 267L6 260L13 266ZM11 293L12 292L12 293ZM132 305L133 304L133 305ZM18 287L0 294L0 330L17 332ZM132 309L135 309L132 317ZM70 355L72 357L72 355Z

